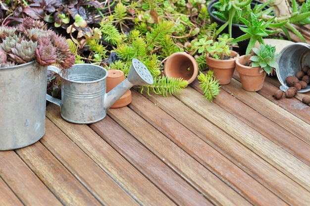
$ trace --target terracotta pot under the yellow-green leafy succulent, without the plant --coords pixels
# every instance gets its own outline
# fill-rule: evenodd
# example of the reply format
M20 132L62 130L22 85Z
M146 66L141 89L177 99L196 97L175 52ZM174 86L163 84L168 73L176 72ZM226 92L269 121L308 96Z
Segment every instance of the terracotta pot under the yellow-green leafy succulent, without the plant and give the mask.
M239 54L236 51L231 51L229 55L239 57ZM236 67L236 57L232 59L215 59L209 57L207 54L206 61L209 70L213 71L215 79L218 79L221 85L230 83Z

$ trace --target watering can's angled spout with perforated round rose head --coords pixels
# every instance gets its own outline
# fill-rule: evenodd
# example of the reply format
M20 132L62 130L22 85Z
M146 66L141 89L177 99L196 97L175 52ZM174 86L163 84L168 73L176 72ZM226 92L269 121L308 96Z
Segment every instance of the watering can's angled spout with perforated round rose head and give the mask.
M153 77L146 66L134 58L132 60L127 79L123 80L111 91L106 93L104 100L104 108L107 110L110 108L117 100L119 100L131 87L134 85L144 85L153 84Z

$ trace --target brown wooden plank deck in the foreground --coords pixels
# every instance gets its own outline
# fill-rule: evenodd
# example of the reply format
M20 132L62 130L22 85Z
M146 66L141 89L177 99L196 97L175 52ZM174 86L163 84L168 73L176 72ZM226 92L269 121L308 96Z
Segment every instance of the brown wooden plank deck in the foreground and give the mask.
M310 206L310 106L238 75L213 103L198 82L143 96L91 125L47 107L37 143L0 152L0 206Z

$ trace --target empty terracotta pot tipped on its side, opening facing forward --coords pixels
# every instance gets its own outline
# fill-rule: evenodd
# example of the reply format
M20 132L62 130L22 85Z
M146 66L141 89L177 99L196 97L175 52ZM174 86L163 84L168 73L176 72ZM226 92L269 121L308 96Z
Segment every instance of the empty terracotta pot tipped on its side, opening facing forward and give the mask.
M196 59L186 52L176 52L168 56L164 64L166 77L183 78L192 83L198 75Z

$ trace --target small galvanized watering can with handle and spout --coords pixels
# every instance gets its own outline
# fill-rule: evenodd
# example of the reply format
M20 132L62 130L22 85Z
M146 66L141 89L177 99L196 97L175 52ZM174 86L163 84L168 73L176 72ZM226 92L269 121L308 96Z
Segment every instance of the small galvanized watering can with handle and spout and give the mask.
M55 66L49 70L59 73ZM61 116L68 122L90 124L102 120L106 110L134 85L153 84L146 66L134 58L127 78L106 93L107 70L94 64L75 64L62 78L61 100L46 95L49 102L60 106Z

